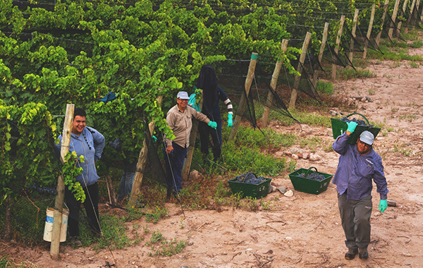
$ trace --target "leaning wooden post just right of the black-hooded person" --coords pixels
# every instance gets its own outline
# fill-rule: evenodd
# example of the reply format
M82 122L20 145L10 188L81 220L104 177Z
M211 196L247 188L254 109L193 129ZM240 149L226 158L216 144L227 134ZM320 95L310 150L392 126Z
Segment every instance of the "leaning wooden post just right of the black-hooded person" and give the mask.
M250 94L250 87L252 84L252 80L254 79L257 56L258 56L257 53L252 52L251 59L250 59L250 66L248 66L248 74L247 74L247 78L245 79L245 86L244 86L245 93L247 93L247 96L243 94L243 96L241 97L240 104L238 105L238 110L236 111L236 115L235 115L235 122L233 123L231 134L229 134L229 141L235 138L238 128L240 128L240 123L241 123L241 119L243 118L244 109L245 109L245 106L247 105L247 97L248 97L248 94Z

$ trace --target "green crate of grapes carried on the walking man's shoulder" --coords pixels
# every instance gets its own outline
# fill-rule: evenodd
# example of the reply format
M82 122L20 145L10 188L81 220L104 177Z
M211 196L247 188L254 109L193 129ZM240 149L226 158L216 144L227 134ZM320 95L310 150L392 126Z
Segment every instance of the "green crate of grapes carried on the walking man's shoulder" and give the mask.
M365 118L362 114L357 114L357 115L362 116L364 120L349 118L350 116L353 116L355 114L357 113L349 114L348 116L344 116L341 119L331 118L332 133L333 133L334 139L338 138L339 135L342 135L345 131L347 131L347 128L348 128L347 123L350 121L354 121L355 123L358 124L358 126L355 128L354 132L350 135L350 138L348 138L347 140L348 143L352 145L355 144L355 142L357 142L357 139L360 137L360 134L364 130L370 131L374 135L374 138L376 138L376 135L379 133L381 129L375 128L373 125L370 125L369 121L367 121L367 118Z

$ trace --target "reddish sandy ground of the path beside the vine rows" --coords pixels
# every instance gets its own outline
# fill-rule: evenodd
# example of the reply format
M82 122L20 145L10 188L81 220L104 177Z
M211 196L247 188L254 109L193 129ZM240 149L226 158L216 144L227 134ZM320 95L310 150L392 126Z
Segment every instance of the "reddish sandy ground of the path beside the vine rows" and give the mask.
M410 54L423 55L423 48ZM384 159L388 180L388 200L398 207L379 212L379 195L373 190L372 243L369 259L345 260L344 234L339 217L336 188L332 183L320 195L294 191L293 197L270 193L262 199L257 212L226 207L221 211L185 211L183 228L180 208L167 204L169 215L158 224L144 219L128 223L147 226L167 239L186 240L190 245L178 255L151 257L146 245L149 236L125 250L73 249L61 246L61 260L53 261L46 248L24 248L0 243L1 252L33 267L422 267L423 255L423 166L422 166L422 67L410 62L374 61L369 70L376 78L334 83L336 92L345 97L370 97L373 102L357 101L357 112L369 121L383 122L384 128L374 148ZM337 107L332 108L340 111ZM329 110L328 110L329 114ZM302 125L313 130L305 135L319 135L333 142L330 128ZM300 135L300 126L289 130ZM298 168L315 166L324 173L335 173L336 152L317 150L318 162L299 159ZM287 175L273 178L273 183L293 185ZM116 264L116 265L114 265ZM114 266L113 266L114 265Z

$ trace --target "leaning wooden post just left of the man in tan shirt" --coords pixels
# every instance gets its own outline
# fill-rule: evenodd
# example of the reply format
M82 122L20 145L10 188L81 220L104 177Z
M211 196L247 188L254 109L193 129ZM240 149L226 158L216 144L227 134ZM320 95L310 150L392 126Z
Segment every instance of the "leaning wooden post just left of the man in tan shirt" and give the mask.
M161 88L159 88L159 91L161 91ZM162 99L163 99L163 95L159 95L156 98L157 106L160 106ZM154 126L155 126L154 121L151 121L148 124L148 129L149 129L150 135L153 135ZM141 148L141 151L140 151L140 155L138 156L137 169L135 171L133 188L130 192L128 208L133 207L133 205L135 205L135 203L137 202L137 197L138 197L138 194L140 193L142 177L144 176L145 164L147 163L147 157L148 157L147 153L148 153L147 142L144 139L144 141L142 142L142 148Z

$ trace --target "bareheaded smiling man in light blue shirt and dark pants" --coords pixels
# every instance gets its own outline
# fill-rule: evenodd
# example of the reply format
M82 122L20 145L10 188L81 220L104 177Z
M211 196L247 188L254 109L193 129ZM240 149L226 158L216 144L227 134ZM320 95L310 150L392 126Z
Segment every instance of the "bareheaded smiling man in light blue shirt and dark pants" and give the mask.
M90 229L94 236L101 234L99 225L99 186L97 180L97 170L95 169L95 162L102 158L105 139L102 133L99 133L94 128L86 126L86 113L82 108L75 108L73 113L71 142L69 145L69 152L75 151L78 156L84 156L85 162L78 161L76 166L82 168L82 174L76 176L76 181L82 185L85 192L85 202L82 204L85 207L85 212L90 224ZM62 136L59 136L59 150ZM75 247L82 245L78 239L80 221L80 201L75 199L75 196L65 187L65 200L69 208L68 231L70 234L70 241Z

